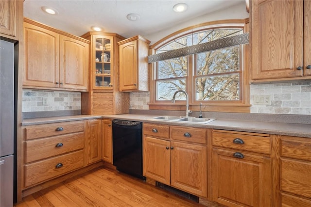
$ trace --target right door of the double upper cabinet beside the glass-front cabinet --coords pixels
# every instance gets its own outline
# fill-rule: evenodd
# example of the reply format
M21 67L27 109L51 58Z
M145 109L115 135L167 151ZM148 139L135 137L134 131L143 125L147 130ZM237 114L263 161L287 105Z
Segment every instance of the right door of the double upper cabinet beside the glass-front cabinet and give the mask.
M88 47L84 42L60 35L60 88L88 89Z

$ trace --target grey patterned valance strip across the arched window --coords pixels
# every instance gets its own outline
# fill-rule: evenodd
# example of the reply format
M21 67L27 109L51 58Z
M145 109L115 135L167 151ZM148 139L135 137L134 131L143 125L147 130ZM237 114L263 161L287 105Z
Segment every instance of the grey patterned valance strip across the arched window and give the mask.
M149 55L148 63L183 57L186 55L192 55L221 48L229 48L232 46L244 44L248 44L248 33L238 34L231 37L225 37L222 39L217 39L211 42L193 45L186 48L174 49L171 51L162 52L155 55Z

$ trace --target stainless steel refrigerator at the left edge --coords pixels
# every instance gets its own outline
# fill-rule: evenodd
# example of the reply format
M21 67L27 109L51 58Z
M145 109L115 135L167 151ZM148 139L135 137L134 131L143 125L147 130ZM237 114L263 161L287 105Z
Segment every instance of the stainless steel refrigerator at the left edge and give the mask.
M15 46L0 40L0 207L13 206Z

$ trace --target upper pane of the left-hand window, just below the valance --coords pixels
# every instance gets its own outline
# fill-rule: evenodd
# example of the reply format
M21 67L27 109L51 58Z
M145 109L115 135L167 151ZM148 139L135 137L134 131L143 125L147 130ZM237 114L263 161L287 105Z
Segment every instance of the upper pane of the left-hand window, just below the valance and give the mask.
M157 79L185 77L187 76L187 65L187 57L159 61Z

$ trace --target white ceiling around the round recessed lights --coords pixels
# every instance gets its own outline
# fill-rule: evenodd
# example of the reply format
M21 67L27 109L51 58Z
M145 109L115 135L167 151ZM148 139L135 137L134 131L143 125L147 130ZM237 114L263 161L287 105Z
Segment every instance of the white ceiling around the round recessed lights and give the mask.
M24 16L56 29L81 36L100 26L103 32L115 32L126 38L164 31L173 25L225 9L245 0L25 0ZM173 11L177 3L188 4L183 13ZM50 15L42 11L47 6L57 10ZM135 13L137 21L126 16Z

